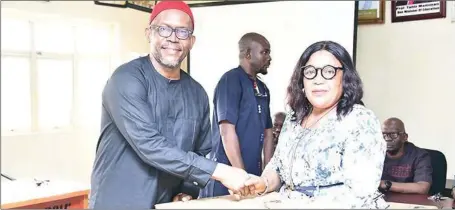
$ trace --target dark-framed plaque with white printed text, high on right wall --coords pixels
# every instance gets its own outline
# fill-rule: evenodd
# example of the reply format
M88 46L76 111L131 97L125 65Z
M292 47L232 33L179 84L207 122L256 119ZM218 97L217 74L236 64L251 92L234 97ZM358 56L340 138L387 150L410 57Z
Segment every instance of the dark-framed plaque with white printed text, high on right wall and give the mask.
M392 1L392 23L446 17L446 1Z

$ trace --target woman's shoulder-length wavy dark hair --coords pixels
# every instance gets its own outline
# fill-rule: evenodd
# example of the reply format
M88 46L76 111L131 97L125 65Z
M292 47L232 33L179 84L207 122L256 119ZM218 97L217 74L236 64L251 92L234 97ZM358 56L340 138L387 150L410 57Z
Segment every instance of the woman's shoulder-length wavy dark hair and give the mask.
M312 105L302 91L303 74L302 66L310 59L313 53L326 50L330 52L341 63L343 67L343 93L337 105L338 119L341 116L346 116L352 111L354 104L360 104L363 97L362 81L359 74L355 70L351 56L348 51L340 44L332 41L320 41L309 46L300 56L294 73L291 77L291 82L287 88L288 105L294 111L294 119L299 122L311 113Z

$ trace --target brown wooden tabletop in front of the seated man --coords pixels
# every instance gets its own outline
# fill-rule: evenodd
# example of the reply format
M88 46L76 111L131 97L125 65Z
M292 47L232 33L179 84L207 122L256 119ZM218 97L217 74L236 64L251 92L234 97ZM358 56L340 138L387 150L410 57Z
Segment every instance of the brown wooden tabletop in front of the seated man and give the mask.
M417 204L425 206L437 206L437 204L428 199L429 195L422 194L405 194L389 192L385 196L387 202ZM452 202L452 207L455 207L455 202Z

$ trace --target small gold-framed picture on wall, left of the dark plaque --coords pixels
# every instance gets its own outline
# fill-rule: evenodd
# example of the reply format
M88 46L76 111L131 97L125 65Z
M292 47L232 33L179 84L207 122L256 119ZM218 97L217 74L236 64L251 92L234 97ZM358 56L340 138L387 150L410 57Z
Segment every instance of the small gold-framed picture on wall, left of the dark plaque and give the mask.
M359 1L358 23L374 24L384 23L385 0L381 1Z

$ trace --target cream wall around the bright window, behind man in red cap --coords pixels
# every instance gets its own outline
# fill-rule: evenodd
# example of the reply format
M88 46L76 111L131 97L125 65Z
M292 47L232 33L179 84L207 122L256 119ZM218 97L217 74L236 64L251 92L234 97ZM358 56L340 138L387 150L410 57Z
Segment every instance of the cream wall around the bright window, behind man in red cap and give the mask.
M149 14L133 9L95 5L93 1L2 1L2 18L77 18L118 24L118 62L131 52L147 53L144 37ZM2 28L2 30L8 30ZM96 36L96 34L94 34ZM127 41L128 40L128 41ZM5 110L2 110L5 111ZM99 128L61 133L2 136L2 173L13 177L67 179L89 183Z

